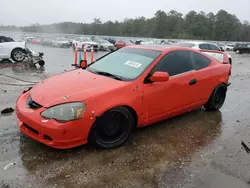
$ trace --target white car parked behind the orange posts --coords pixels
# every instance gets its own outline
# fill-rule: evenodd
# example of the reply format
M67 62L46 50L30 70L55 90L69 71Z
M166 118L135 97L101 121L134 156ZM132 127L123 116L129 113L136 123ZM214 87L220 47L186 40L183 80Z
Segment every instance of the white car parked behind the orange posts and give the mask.
M91 51L91 48L93 46L94 51L99 51L99 45L98 43L91 40L89 37L77 37L72 42L73 49L84 49L84 45L86 45L87 51Z

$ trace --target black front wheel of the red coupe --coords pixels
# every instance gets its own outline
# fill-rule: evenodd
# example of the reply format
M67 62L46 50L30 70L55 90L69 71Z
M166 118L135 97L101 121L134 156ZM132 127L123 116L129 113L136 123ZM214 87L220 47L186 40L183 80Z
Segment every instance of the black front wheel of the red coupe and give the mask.
M129 138L134 123L134 117L127 108L113 108L96 119L88 142L100 149L118 148Z

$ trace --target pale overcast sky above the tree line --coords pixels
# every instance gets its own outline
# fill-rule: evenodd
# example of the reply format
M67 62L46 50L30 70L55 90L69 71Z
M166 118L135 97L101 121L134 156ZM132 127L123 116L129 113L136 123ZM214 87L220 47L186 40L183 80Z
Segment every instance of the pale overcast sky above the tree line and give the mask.
M144 16L157 10L174 9L216 13L224 9L241 20L250 21L250 0L0 0L0 25L50 24L55 22L92 22Z

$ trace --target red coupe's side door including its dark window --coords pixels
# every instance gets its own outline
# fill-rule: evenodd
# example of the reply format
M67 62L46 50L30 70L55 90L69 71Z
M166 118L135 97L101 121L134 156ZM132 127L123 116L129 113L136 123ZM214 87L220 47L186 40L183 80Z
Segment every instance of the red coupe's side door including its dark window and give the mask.
M166 82L144 84L146 124L183 113L196 102L197 75L189 51L168 53L150 75L156 71L168 72L170 78Z

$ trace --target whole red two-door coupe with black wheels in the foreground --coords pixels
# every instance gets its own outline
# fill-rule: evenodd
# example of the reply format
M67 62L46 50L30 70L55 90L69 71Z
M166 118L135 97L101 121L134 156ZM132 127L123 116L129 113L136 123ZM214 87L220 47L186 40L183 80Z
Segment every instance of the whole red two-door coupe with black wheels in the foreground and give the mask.
M20 130L48 146L116 148L143 127L202 106L219 110L231 66L186 47L124 47L52 76L17 99Z

